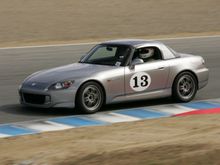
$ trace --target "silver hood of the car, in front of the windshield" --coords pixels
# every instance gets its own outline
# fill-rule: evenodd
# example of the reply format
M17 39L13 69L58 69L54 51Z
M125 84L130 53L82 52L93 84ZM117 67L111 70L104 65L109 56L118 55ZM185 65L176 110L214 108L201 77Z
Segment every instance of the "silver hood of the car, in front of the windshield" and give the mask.
M74 80L81 77L90 77L100 71L112 69L113 66L74 63L61 67L36 72L24 81L24 84L40 83L42 86L65 80Z

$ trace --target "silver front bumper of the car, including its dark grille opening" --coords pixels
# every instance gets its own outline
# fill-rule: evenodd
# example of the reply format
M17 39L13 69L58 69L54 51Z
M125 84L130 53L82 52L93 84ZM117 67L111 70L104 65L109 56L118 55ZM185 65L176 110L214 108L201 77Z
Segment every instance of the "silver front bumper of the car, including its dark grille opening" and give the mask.
M22 87L19 89L21 104L39 108L74 108L75 94L74 87L48 91Z

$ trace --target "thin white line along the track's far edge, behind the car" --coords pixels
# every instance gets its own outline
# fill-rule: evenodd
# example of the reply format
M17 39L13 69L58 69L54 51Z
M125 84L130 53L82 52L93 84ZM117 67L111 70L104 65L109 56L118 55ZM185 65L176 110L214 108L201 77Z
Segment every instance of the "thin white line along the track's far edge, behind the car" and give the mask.
M210 36L192 36L192 37L171 37L171 38L154 38L146 40L184 40L184 39L202 39L202 38L218 38L220 35ZM138 38L138 37L137 37ZM132 38L131 38L132 39ZM33 45L33 46L17 46L17 47L1 47L0 50L7 49L28 49L28 48L46 48L46 47L64 47L64 46L81 46L81 45L94 45L100 42L85 42L85 43L72 43L72 44L49 44L49 45Z

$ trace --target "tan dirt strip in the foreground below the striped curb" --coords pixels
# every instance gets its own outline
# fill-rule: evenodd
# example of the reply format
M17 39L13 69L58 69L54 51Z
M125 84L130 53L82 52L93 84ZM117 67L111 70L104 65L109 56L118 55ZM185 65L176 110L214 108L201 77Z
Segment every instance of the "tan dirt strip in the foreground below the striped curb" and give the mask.
M76 128L0 139L0 164L219 164L220 115Z

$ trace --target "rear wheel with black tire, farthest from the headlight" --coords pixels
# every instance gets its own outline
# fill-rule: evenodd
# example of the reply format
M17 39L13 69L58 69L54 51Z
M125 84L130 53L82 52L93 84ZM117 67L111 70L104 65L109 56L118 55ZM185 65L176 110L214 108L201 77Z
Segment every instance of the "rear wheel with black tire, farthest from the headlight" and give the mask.
M172 97L177 102L189 102L195 97L197 89L196 77L190 72L182 72L174 80Z

